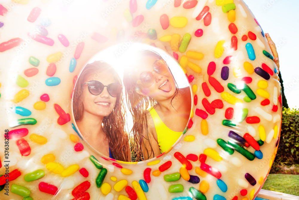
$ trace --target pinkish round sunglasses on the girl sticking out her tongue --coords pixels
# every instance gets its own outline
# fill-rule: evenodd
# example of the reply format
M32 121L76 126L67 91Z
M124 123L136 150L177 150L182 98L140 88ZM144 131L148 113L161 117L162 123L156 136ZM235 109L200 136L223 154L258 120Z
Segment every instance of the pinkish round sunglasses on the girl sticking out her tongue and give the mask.
M155 71L158 74L164 74L168 71L167 63L164 60L158 60L154 63L154 70L151 72L143 72L140 74L139 83L145 88L149 88L155 81L155 77L152 72Z

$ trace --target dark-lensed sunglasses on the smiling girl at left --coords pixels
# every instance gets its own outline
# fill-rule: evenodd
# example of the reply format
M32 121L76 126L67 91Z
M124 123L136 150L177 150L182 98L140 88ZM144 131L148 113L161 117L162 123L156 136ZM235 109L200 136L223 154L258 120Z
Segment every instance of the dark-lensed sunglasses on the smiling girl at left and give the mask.
M104 85L100 81L89 81L86 83L83 83L82 85L88 85L88 90L93 95L99 95L103 92L104 88L107 87L107 91L112 97L117 97L121 89L123 88L118 83L110 83L109 85Z

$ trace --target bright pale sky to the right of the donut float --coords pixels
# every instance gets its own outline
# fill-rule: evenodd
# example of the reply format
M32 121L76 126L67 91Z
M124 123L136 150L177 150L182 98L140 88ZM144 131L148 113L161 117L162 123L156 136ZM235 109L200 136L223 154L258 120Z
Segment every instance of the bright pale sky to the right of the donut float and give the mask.
M263 31L276 44L285 96L290 108L299 109L298 0L244 0Z

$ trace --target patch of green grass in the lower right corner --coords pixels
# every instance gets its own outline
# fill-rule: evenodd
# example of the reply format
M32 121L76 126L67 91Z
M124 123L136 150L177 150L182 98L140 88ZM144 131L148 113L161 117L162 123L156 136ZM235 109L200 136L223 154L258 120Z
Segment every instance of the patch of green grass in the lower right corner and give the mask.
M299 175L269 174L262 189L299 196Z

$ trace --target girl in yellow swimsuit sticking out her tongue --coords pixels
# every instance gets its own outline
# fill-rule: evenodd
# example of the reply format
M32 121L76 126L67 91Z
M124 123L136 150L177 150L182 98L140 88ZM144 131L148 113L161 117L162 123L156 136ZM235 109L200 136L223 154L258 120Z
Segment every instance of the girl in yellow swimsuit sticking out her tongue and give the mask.
M158 156L179 139L190 117L191 93L189 86L178 88L158 53L142 50L134 57L139 63L125 69L123 82L139 161Z

